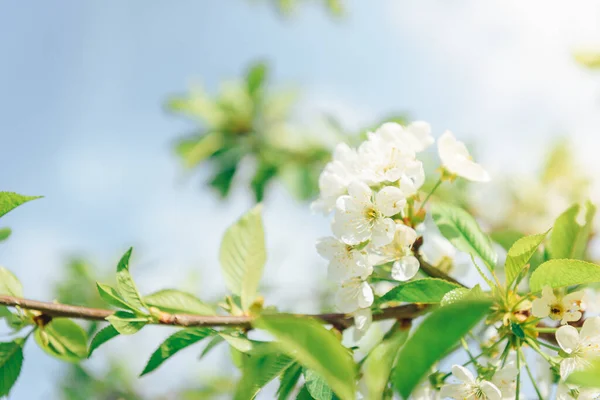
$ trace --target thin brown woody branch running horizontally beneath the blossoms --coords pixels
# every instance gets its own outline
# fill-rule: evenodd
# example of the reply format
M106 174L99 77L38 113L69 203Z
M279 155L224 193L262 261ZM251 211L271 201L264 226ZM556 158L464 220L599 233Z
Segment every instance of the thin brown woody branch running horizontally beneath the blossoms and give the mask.
M68 304L49 303L37 300L22 299L12 296L0 296L0 305L9 307L20 307L26 310L39 311L42 315L49 317L75 318L92 321L102 321L114 313L113 310L72 306ZM375 321L385 319L407 320L418 317L428 308L423 304L407 304L397 307L389 307L381 313L373 315ZM348 328L354 324L354 319L348 314L294 314L298 317L315 318L325 324L334 325L337 328ZM173 325L181 327L240 327L251 328L254 316L230 316L230 315L192 315L192 314L168 314L162 313L157 325Z

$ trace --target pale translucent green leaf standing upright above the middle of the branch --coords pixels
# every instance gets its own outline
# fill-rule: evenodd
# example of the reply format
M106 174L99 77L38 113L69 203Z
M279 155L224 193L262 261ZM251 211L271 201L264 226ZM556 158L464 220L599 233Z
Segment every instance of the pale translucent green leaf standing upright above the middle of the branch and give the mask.
M225 232L220 260L225 283L241 298L248 310L256 299L266 261L265 234L260 204L247 212Z

